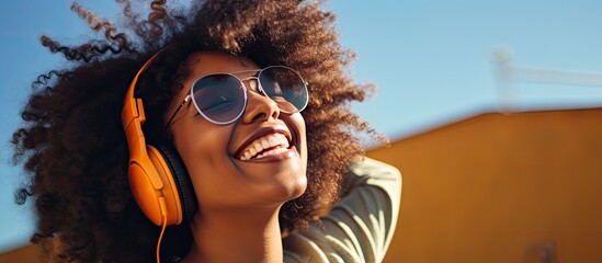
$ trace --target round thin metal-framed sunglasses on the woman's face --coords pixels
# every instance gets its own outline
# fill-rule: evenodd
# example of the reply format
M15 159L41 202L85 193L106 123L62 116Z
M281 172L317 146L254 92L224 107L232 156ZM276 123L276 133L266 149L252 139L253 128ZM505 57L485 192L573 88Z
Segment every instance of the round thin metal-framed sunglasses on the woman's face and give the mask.
M251 72L258 73L242 79L235 76ZM303 111L309 101L307 82L288 67L270 66L261 70L211 73L194 81L190 94L184 98L167 125L171 124L175 114L190 100L207 121L218 125L231 124L247 107L247 91L272 99L280 111L288 114Z

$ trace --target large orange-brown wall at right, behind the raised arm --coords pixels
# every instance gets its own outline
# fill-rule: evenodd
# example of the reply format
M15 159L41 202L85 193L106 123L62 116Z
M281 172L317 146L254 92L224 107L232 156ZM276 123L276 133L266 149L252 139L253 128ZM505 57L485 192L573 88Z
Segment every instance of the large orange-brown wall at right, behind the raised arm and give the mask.
M600 108L485 114L368 156L404 175L385 262L602 262Z

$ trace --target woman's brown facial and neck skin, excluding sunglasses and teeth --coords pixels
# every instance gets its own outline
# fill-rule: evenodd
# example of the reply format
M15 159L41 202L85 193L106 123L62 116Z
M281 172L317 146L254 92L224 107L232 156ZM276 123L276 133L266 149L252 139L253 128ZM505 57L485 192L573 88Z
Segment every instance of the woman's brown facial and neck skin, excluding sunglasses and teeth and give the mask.
M201 76L259 69L251 60L200 52L184 62L184 89L173 99L171 116ZM237 76L239 78L248 76ZM245 83L248 85L249 83ZM247 87L249 89L249 87ZM275 102L247 92L239 119L216 125L186 102L170 124L173 144L191 176L198 211L191 224L194 244L183 262L282 262L279 209L307 186L305 122L281 112ZM281 134L291 147L263 159L242 161L252 138ZM277 135L282 139L282 136Z

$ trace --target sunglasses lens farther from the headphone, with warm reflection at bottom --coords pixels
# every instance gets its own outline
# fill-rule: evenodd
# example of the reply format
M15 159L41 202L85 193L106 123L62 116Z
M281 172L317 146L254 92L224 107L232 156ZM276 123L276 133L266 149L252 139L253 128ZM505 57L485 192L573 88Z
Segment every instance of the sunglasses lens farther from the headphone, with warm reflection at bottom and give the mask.
M272 66L263 69L258 78L265 94L275 101L283 112L296 113L307 106L307 87L293 69Z

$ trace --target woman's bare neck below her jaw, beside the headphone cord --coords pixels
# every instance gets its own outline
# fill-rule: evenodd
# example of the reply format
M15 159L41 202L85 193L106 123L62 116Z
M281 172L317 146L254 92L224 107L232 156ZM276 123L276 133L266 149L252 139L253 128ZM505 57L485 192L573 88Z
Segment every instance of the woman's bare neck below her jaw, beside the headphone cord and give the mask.
M183 262L282 262L279 208L198 213Z

